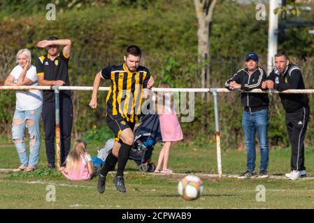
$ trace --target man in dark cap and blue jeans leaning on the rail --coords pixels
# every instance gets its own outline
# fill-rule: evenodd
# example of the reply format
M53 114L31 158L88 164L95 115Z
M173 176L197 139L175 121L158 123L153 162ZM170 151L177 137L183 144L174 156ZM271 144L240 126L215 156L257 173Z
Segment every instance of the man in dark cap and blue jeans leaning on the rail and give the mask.
M251 91L252 89L266 89L266 73L258 66L258 56L249 53L245 59L246 68L238 70L234 77L228 79L225 86L229 90L241 89ZM255 132L259 137L259 148L261 153L261 164L259 178L268 178L267 167L269 163L269 141L268 141L268 107L269 98L266 93L241 93L241 102L244 107L242 116L242 128L247 150L247 162L245 171L238 178L257 177L255 172Z

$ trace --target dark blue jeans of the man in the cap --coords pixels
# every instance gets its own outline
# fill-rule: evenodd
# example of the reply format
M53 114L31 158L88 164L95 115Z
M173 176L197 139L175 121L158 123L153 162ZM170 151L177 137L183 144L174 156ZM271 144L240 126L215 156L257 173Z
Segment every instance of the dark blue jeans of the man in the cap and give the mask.
M243 112L242 128L245 137L247 151L246 168L249 171L255 170L255 133L259 138L259 148L261 152L260 170L266 170L269 164L269 140L267 136L269 125L269 109L262 109L257 112Z

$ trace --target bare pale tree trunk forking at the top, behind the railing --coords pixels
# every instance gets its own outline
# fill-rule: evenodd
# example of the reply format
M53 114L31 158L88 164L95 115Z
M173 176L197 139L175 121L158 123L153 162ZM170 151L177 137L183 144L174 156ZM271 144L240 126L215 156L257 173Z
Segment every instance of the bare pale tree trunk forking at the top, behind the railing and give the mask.
M201 87L209 87L210 84L210 28L213 21L213 12L217 0L194 0L197 12L198 31L198 62L201 66Z

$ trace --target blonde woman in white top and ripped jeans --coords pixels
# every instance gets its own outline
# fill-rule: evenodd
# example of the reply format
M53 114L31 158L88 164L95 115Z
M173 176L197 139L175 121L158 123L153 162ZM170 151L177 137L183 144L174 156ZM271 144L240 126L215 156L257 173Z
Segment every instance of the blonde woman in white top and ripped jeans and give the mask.
M18 65L6 78L8 86L37 86L36 68L31 65L31 52L21 49L16 55ZM33 171L38 163L40 132L39 121L43 105L43 95L40 90L16 91L16 108L12 123L12 139L20 157L20 167L13 171ZM24 141L25 128L29 132L29 157Z

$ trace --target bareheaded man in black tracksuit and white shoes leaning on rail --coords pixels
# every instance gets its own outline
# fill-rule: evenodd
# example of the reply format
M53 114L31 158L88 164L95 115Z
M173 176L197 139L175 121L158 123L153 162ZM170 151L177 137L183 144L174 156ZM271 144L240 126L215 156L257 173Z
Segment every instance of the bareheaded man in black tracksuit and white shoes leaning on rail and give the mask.
M276 68L268 77L269 89L278 91L305 89L300 68L290 63L287 55L276 54L275 66ZM285 124L291 144L291 173L286 176L291 180L297 180L306 177L304 139L310 114L308 95L305 93L280 93L279 95L285 109Z

